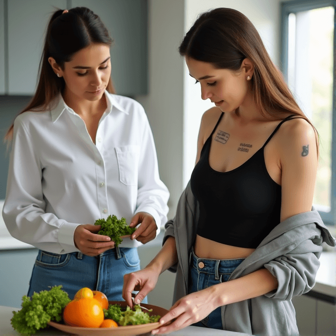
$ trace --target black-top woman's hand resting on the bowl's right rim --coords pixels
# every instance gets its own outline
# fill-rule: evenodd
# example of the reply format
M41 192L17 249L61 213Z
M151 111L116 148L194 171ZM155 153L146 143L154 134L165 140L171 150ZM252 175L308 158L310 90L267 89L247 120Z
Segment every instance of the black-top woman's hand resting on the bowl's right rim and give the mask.
M159 322L166 324L174 321L167 326L153 330L152 334L169 334L203 320L219 307L215 303L217 301L211 287L182 297L169 309L166 315L161 317Z

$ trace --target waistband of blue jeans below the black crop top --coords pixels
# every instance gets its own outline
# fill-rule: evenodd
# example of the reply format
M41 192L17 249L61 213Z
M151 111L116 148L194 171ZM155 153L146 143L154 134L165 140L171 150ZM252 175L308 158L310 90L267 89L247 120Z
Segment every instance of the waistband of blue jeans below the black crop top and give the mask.
M208 274L231 274L245 258L238 259L207 259L199 258L194 249L190 252L190 266L194 267L198 272Z

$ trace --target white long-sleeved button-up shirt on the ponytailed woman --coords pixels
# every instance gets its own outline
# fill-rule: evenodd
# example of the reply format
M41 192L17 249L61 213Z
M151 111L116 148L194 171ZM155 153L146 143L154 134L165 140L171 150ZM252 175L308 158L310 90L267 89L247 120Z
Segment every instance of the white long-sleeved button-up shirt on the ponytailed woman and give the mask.
M130 223L136 212L167 221L169 193L160 180L143 107L105 91L96 144L62 95L47 111L14 121L3 219L10 234L41 250L78 252L74 231L109 214ZM121 247L142 245L125 238Z

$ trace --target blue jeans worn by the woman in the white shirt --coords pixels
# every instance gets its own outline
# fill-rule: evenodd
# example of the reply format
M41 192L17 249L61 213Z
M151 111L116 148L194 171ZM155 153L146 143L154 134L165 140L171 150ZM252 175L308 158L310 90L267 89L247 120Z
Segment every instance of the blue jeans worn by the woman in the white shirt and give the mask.
M124 275L140 269L136 248L114 248L97 256L81 252L56 254L39 251L29 284L28 296L62 285L73 299L77 291L88 287L104 293L111 301L122 297ZM147 297L142 300L147 303Z

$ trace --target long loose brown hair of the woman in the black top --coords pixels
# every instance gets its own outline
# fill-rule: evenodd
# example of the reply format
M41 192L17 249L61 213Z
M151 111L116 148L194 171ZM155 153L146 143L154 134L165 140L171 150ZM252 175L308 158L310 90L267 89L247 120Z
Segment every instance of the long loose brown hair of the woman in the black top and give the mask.
M254 101L261 114L279 120L279 112L303 117L318 133L297 105L282 73L275 67L252 22L231 8L215 8L195 21L179 46L181 56L211 63L217 69L240 69L245 58L254 64L250 81ZM283 118L284 119L284 118Z

